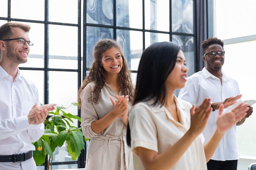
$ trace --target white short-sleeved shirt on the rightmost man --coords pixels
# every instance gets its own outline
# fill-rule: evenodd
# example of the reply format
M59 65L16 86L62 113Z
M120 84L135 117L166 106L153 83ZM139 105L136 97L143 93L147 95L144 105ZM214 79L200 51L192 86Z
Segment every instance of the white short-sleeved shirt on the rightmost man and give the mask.
M223 102L229 97L240 95L239 86L235 79L232 79L222 72L222 84L218 77L212 75L206 68L187 77L185 87L180 90L178 98L183 99L195 106L199 106L205 97L211 98L211 102ZM241 100L238 100L238 103ZM229 108L223 110L223 114ZM208 124L204 129L203 135L205 143L209 141L213 132L216 130L216 118L219 110L211 113ZM216 151L211 157L213 160L226 161L239 159L236 125L222 137Z

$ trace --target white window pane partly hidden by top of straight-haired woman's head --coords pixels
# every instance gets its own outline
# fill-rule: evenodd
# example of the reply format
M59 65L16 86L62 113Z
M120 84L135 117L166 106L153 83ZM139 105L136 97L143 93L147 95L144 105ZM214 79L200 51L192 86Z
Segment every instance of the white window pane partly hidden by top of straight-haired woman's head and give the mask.
M145 32L145 48L155 42L170 41L169 34Z

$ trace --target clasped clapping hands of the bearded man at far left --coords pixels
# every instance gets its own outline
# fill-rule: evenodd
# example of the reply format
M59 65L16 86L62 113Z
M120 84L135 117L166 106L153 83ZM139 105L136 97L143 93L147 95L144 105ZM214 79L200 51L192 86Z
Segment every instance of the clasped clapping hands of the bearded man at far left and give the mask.
M48 112L54 110L56 104L45 104L38 107L36 106L37 104L33 106L33 108L29 111L29 114L27 115L29 124L38 125L40 123L43 123L48 115Z

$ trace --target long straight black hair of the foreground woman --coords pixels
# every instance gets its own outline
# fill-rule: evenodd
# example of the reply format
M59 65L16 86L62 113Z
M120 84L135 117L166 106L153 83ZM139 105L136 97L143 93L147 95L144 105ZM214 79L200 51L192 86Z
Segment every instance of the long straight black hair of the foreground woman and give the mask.
M133 105L156 97L153 105L164 104L166 99L165 81L173 71L181 47L172 42L157 42L145 49L141 55L137 73Z

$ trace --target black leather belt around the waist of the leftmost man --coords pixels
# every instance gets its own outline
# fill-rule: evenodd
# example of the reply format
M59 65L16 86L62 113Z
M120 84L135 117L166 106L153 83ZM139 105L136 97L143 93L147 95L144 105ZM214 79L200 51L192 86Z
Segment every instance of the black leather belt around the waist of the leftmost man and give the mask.
M27 153L13 154L13 155L0 155L0 162L21 162L30 159L33 156L33 152L30 150Z

